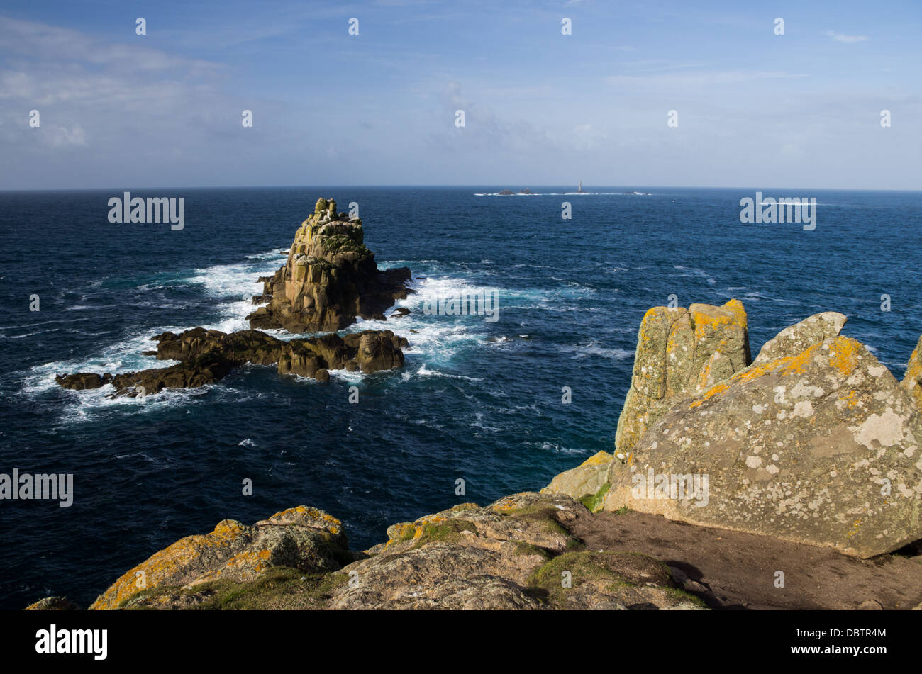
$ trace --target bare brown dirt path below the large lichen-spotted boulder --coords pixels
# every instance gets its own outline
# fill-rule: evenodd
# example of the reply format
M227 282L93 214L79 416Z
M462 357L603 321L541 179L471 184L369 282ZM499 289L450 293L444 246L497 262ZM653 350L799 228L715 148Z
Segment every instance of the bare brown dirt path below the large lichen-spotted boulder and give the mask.
M665 517L602 512L571 528L588 550L644 552L689 578L686 589L714 609L885 610L922 604L922 550L916 556L848 557L829 548L769 536L696 527ZM774 587L775 572L785 587Z

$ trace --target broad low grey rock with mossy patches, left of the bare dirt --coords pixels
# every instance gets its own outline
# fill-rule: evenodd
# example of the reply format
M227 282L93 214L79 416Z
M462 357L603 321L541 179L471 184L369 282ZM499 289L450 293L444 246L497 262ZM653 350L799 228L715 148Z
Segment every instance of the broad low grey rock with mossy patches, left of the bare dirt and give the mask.
M567 527L587 516L568 496L524 493L395 525L372 556L342 569L355 580L337 587L327 608L666 609L690 601L665 564L585 551Z

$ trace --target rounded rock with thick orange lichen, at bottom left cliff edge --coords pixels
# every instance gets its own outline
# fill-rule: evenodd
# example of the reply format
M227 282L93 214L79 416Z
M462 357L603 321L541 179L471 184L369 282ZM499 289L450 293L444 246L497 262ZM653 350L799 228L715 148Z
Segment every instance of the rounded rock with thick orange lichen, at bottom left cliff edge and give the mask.
M253 581L278 566L304 573L330 572L350 560L342 524L323 510L298 506L252 527L225 519L210 533L186 536L138 564L89 608L122 608L142 591L159 586L195 587L219 579Z

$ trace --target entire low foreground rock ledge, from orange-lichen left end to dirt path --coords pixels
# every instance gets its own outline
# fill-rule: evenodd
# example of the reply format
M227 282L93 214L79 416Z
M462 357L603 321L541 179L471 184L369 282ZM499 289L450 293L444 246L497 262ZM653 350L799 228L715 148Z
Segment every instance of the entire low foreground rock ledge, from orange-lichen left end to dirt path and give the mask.
M350 553L339 523L300 506L252 528L226 520L179 540L90 608L704 608L652 557L585 550L571 533L580 517L590 517L584 506L552 494L461 504L392 526L386 542L340 567Z

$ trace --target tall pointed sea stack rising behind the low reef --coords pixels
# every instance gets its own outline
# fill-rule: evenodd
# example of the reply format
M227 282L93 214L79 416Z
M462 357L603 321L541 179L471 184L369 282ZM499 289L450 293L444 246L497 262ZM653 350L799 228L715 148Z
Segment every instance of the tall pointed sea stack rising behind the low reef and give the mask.
M258 301L268 304L247 317L250 327L337 331L357 316L384 319L385 309L412 292L410 272L379 270L363 241L361 219L337 214L333 200L317 200L295 232L285 266L264 280Z

